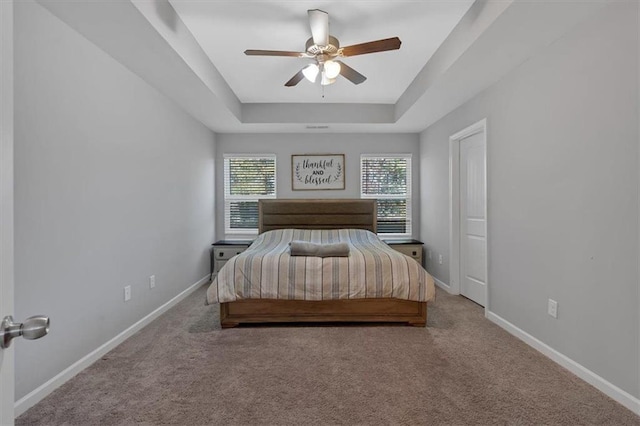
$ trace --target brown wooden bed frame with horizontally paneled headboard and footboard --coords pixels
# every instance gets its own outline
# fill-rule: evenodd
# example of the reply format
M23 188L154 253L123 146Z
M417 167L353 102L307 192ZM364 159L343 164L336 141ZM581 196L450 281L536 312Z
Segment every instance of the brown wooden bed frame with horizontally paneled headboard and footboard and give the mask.
M376 232L376 200L275 199L259 201L259 232L282 228L359 228ZM425 327L427 303L400 299L244 299L220 304L223 328L293 322L384 322Z

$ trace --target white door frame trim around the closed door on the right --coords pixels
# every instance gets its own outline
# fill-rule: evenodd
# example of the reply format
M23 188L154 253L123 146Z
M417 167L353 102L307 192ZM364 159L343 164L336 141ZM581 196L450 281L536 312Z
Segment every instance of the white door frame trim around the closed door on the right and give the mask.
M460 294L460 141L476 133L482 133L484 139L484 217L485 217L485 317L489 314L489 215L487 185L487 119L462 129L449 137L449 287L451 294Z

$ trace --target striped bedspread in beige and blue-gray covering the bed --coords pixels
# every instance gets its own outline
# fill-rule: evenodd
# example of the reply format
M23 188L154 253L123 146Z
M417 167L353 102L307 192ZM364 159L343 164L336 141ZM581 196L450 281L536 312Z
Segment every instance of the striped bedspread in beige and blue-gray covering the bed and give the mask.
M344 257L291 256L291 241L346 242ZM280 229L231 258L207 291L208 303L238 299L396 298L428 301L433 278L418 262L361 229Z

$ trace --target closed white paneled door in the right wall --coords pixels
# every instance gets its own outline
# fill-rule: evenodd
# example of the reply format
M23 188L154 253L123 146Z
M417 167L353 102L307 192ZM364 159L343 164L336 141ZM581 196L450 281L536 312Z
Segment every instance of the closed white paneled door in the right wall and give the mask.
M460 140L460 294L486 303L486 187L484 132Z

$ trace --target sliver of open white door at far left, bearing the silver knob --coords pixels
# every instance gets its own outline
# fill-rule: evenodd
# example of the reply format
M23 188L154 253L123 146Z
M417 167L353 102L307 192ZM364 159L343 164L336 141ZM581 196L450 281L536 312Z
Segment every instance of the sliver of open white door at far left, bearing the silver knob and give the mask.
M0 1L0 315L13 313L13 0ZM0 424L14 424L14 348L0 349Z

